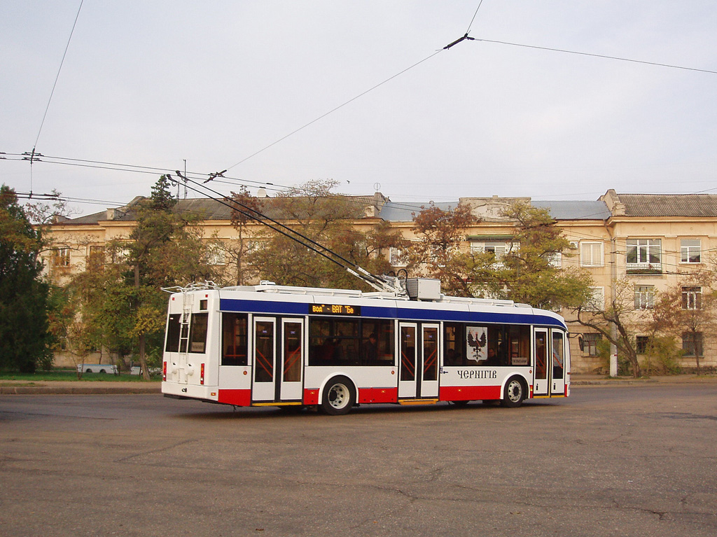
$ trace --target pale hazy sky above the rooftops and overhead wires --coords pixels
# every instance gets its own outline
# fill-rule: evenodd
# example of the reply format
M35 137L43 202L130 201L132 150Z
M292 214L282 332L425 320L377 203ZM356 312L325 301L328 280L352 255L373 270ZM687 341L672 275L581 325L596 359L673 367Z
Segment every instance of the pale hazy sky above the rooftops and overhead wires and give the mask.
M60 191L75 214L147 196L176 169L228 169L210 184L222 194L333 179L423 203L717 193L713 0L78 8L8 0L0 17L0 183ZM443 49L469 28L475 40ZM146 168L13 156L33 147Z

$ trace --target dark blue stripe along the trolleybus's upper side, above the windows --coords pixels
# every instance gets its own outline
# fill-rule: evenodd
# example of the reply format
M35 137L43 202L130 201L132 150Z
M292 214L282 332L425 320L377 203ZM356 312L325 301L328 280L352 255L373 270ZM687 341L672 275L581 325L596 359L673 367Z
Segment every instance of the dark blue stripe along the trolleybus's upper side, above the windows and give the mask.
M247 313L267 313L285 315L308 315L311 303L274 302L270 300L239 300L236 298L222 298L219 300L219 310L242 311ZM361 317L373 318L399 318L402 320L435 320L471 323L510 323L526 325L547 325L566 328L560 320L540 313L495 313L486 311L455 311L430 310L414 308L394 308L386 306L371 306L361 304ZM351 315L346 315L351 318Z

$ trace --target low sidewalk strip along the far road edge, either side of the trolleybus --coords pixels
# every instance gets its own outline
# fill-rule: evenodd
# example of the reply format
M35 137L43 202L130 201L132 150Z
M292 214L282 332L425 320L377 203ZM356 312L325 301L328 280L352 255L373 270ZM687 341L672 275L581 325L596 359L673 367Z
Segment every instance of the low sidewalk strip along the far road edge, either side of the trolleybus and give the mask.
M706 384L716 383L717 375L653 376L649 379L619 377L610 379L605 375L574 374L570 385L579 386L639 386L655 384ZM100 394L160 394L159 382L113 382L113 381L0 381L0 395L100 395Z

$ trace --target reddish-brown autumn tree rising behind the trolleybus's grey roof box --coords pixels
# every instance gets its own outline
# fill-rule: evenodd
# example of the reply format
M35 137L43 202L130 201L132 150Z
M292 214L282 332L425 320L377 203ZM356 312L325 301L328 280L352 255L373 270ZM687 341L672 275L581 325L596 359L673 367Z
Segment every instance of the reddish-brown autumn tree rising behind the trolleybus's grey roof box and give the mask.
M470 285L470 257L461 252L465 230L479 222L467 205L440 209L431 203L414 215L409 260L419 275L441 280L447 295L473 296Z

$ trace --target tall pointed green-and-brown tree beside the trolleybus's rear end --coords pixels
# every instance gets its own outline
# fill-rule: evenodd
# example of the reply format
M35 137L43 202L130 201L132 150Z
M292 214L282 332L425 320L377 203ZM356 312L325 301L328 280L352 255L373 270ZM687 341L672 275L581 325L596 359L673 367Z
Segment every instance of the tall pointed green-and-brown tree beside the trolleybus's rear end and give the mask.
M102 262L91 260L72 282L81 333L120 355L136 353L146 379L148 357L161 356L167 296L161 287L213 276L191 227L199 217L177 212L168 186L161 176L151 197L133 207L129 237L109 242Z

